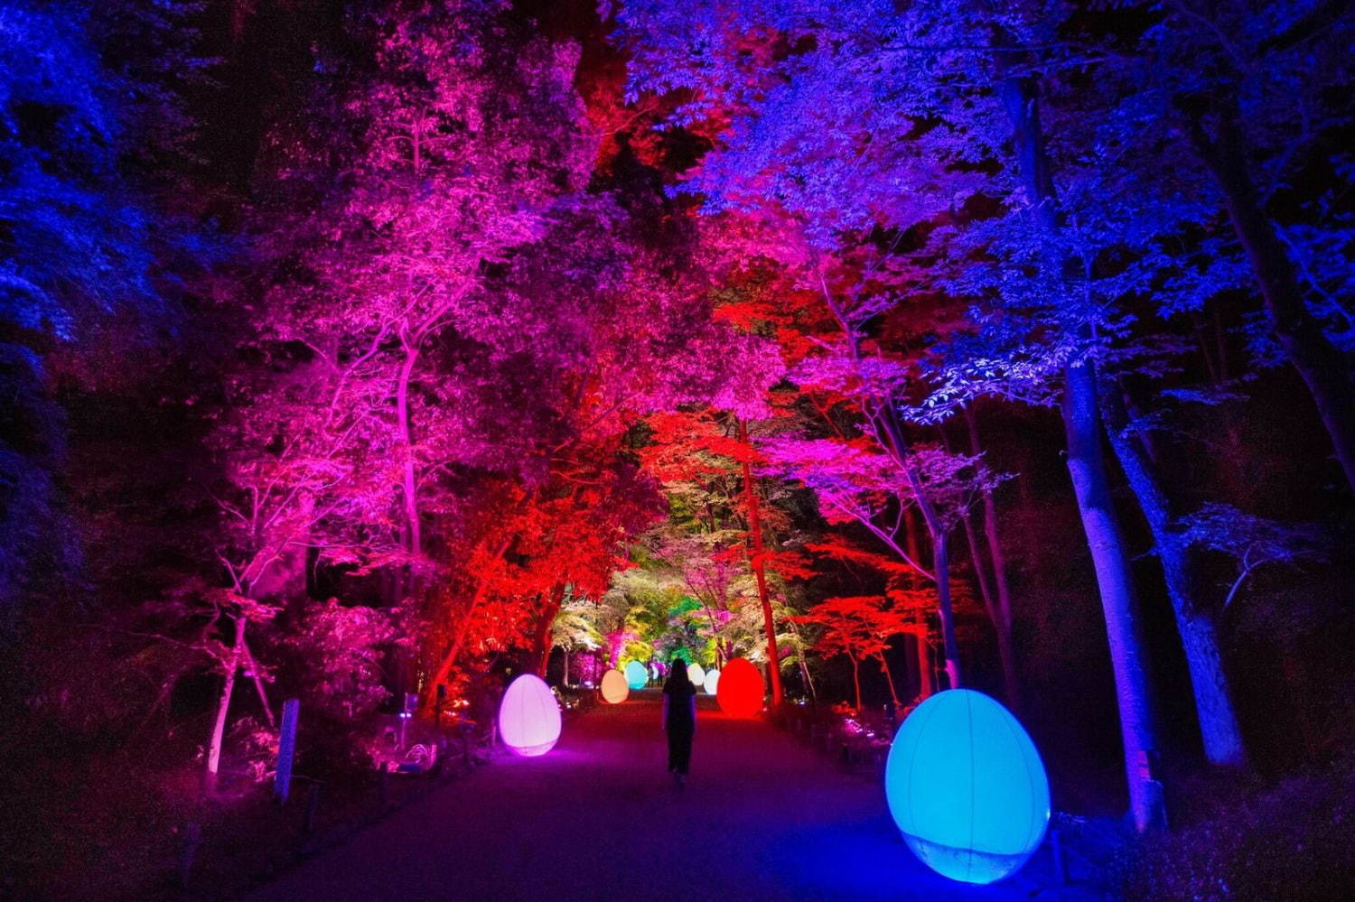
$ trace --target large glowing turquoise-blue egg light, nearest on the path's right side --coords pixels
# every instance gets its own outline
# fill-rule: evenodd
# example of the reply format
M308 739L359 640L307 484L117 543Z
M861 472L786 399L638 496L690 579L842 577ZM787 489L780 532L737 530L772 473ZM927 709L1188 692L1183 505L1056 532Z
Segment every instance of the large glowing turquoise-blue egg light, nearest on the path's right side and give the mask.
M885 763L904 841L953 880L1015 874L1049 826L1049 777L1020 722L973 689L939 692L908 715Z

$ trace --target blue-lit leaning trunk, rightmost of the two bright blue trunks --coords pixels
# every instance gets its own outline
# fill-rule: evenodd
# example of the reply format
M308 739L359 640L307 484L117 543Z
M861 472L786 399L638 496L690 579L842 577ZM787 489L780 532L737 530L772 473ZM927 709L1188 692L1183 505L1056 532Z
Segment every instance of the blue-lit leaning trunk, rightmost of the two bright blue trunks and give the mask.
M1218 653L1214 619L1191 601L1192 590L1199 585L1194 558L1180 535L1172 530L1171 505L1161 478L1148 454L1127 435L1129 410L1117 386L1102 386L1099 398L1110 444L1144 512L1157 549L1157 561L1163 566L1167 596L1176 618L1176 631L1186 650L1186 666L1195 693L1195 715L1205 744L1205 757L1210 764L1244 767L1247 750Z

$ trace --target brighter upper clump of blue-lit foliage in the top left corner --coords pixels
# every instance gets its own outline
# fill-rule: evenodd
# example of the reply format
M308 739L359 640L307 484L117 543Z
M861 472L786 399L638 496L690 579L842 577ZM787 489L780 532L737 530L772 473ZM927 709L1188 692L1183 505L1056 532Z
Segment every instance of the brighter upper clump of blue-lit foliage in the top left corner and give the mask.
M152 222L118 173L118 80L83 24L0 7L0 317L64 340L154 298Z

